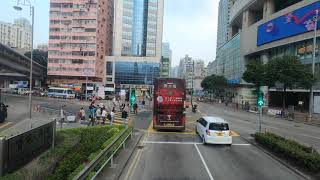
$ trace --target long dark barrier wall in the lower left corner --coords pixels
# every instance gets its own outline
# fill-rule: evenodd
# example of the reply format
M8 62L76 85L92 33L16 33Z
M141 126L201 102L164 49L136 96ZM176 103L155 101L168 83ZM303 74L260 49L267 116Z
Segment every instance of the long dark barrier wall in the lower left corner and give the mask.
M0 176L14 172L53 147L55 128L54 120L9 138L0 137Z

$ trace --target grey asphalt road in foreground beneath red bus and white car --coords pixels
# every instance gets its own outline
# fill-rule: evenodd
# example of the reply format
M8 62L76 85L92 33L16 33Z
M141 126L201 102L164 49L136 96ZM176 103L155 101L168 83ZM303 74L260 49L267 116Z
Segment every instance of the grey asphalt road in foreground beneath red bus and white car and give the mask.
M205 108L201 105L200 111ZM202 109L203 108L203 109ZM213 111L207 109L208 115ZM252 132L243 131L241 123L230 122L234 132L233 145L203 145L194 132L156 132L152 130L151 113L148 118L137 119L136 124L145 132L121 175L121 180L298 180L302 179L287 167L274 160L255 146L248 144L241 132L247 136ZM200 113L187 113L188 129ZM235 121L236 122L236 121ZM144 124L144 125L142 125ZM238 125L240 124L239 128ZM238 131L240 130L240 131Z

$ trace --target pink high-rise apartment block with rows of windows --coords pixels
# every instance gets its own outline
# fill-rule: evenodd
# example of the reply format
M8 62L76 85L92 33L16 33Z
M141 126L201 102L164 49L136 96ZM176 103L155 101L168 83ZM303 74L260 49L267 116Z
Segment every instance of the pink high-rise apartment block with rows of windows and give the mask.
M103 82L112 53L114 0L50 0L50 84Z

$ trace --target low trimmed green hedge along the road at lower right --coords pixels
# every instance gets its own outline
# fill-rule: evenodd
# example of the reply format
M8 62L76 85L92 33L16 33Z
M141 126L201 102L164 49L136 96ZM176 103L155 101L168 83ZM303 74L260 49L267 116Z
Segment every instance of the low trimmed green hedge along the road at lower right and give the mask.
M320 154L294 140L273 133L256 133L255 140L273 153L311 172L320 172Z

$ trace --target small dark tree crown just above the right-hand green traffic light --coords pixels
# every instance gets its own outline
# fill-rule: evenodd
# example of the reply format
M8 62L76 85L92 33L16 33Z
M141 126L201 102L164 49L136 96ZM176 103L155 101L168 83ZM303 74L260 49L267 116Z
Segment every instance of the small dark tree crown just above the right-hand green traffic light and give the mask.
M261 61L252 61L246 65L246 71L242 78L248 83L254 84L259 90L260 86L265 85L265 69L265 65Z

